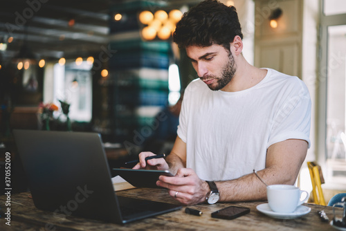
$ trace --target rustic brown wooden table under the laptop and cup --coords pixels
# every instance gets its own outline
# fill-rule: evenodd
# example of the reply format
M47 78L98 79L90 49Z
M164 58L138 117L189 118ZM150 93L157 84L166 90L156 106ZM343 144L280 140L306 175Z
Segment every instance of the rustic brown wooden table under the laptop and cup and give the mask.
M177 203L166 190L135 188L117 192L120 196L145 198L152 201ZM0 196L2 211L6 203L6 196ZM125 225L104 223L75 216L66 216L66 219L53 216L53 212L38 210L29 193L11 195L11 225L6 225L3 214L0 219L0 230L47 230L47 223L53 224L55 230L334 230L329 223L320 221L317 212L325 210L329 219L332 219L332 207L305 203L311 207L311 212L298 219L273 219L256 209L257 205L266 201L251 201L244 203L217 203L215 205L194 205L191 208L201 210L202 216L185 214L185 207L175 212L154 216L149 219L135 221ZM228 221L213 219L210 214L229 205L250 207L250 214Z

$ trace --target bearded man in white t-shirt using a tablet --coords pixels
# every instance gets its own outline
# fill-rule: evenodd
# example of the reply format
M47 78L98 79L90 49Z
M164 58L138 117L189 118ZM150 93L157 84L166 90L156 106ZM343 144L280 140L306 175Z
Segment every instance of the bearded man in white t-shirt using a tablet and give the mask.
M181 203L266 198L265 185L293 185L310 145L311 101L298 79L256 68L242 56L234 7L207 0L176 26L199 79L185 89L172 152L134 168L170 169L158 186ZM219 196L217 194L219 192Z

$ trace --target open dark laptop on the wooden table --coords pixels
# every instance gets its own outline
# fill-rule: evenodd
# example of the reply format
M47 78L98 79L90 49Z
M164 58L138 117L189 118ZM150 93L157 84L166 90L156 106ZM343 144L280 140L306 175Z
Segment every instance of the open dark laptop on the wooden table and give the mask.
M13 131L35 206L53 216L129 223L181 205L117 196L98 133Z

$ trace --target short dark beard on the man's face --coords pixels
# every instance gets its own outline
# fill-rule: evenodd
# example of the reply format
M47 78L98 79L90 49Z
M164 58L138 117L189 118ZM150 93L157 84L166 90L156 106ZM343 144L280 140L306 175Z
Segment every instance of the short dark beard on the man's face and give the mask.
M219 91L223 89L230 82L230 80L233 79L233 77L235 76L235 71L237 71L237 68L235 66L235 59L232 53L229 51L228 62L222 67L221 76L208 75L201 78L201 80L203 79L217 80L215 84L208 84L208 87L212 91Z

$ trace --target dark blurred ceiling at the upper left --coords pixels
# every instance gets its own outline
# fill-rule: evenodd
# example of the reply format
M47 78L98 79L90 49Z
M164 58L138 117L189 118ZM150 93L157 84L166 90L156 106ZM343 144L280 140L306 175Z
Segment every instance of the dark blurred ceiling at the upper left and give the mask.
M109 43L110 8L134 0L8 0L0 3L0 43L3 60L15 57L24 41L37 58L92 55ZM153 0L158 2L158 0ZM163 1L180 8L190 1ZM74 25L69 21L74 19ZM8 38L13 37L11 43Z

